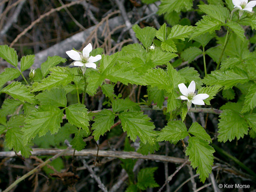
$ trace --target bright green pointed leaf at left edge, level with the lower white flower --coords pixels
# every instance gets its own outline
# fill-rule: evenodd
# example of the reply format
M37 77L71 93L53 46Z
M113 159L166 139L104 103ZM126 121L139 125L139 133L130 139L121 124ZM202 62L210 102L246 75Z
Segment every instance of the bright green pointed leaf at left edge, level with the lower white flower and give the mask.
M29 88L27 88L24 84L21 84L18 81L9 84L5 88L3 88L1 92L4 92L12 96L14 99L18 99L22 102L27 101L31 104L36 102L35 97L30 92Z

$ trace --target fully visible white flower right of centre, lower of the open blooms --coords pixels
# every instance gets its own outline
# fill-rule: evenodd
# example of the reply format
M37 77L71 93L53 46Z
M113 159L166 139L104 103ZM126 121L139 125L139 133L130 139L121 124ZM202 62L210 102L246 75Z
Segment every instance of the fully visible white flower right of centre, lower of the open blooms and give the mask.
M188 100L188 109L190 108L191 103L196 104L196 105L204 105L203 100L205 100L209 97L209 95L206 93L201 93L201 94L196 95L196 93L195 93L196 83L193 80L188 85L188 88L186 87L186 85L184 83L179 84L178 87L180 89L180 92L183 95L183 96L180 96L178 99Z

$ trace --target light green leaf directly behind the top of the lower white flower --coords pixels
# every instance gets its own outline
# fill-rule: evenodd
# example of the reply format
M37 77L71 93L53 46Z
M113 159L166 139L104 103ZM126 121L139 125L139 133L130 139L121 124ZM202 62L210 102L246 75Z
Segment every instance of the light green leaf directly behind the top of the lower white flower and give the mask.
M185 67L178 71L180 76L182 76L187 83L190 83L192 80L196 82L196 86L202 85L202 80L200 78L199 73L192 67ZM185 82L184 82L185 83Z

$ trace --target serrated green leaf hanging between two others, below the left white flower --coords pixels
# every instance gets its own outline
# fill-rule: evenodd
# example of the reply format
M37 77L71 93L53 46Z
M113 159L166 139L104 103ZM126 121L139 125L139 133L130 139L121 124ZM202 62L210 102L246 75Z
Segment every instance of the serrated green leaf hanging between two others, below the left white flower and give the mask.
M92 124L92 135L94 136L95 140L99 140L100 136L104 135L105 132L110 131L110 128L114 124L115 114L107 109L99 112L95 118L94 123Z

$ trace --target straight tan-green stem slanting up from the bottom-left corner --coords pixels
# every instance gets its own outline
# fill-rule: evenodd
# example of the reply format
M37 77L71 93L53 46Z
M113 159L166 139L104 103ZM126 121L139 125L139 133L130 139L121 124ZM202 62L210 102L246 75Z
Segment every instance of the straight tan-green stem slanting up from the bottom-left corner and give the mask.
M63 155L65 152L67 152L70 148L66 148L64 151L56 154L55 156L51 157L50 159L44 161L44 163L38 165L36 168L32 169L30 172L26 173L24 176L20 177L16 181L14 181L8 188L6 188L3 192L8 192L12 188L14 188L17 184L20 183L20 181L26 179L27 177L31 176L32 174L38 172L41 168L43 168L46 164L52 162L53 160L57 159L59 156Z

